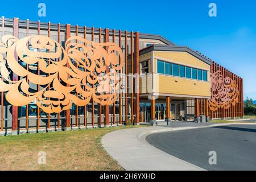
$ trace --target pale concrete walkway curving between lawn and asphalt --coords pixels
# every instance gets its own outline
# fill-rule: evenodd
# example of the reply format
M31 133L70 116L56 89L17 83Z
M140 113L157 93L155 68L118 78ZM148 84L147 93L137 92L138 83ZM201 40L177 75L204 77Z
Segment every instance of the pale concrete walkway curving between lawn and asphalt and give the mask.
M146 142L146 136L153 133L232 124L234 123L197 123L195 125L195 123L180 122L179 124L177 122L169 126L117 130L106 134L102 138L102 144L109 155L127 171L199 171L204 169L151 146Z

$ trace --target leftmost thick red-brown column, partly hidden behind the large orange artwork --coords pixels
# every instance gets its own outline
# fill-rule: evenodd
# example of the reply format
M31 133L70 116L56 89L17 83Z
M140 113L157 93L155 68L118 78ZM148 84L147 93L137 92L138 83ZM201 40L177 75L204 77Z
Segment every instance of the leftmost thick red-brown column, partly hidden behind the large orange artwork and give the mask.
M13 36L19 38L19 19L13 19ZM15 60L18 61L18 55L15 53ZM18 81L18 75L13 73L13 81ZM12 135L18 134L18 107L12 106L12 115L13 115L13 130Z

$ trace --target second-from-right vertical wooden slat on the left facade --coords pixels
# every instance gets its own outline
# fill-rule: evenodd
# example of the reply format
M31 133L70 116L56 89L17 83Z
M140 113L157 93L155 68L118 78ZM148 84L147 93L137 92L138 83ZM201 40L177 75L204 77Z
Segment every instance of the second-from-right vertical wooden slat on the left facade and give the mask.
M133 31L130 32L130 40L131 40L131 75L133 76L133 73L134 73L134 55L133 55ZM135 71L136 72L136 71ZM132 88L132 91L131 91L131 123L134 124L134 119L133 119L133 115L134 115L134 91L135 91L135 88L134 88L134 78L131 77L131 86L133 87ZM130 89L131 90L131 89Z

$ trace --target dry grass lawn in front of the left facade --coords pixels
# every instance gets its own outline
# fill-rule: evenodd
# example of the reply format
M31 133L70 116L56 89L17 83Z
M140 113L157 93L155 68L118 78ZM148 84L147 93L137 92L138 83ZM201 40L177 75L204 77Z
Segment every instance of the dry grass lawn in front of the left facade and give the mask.
M104 150L101 138L110 127L0 137L0 170L123 170ZM46 165L38 152L46 152Z

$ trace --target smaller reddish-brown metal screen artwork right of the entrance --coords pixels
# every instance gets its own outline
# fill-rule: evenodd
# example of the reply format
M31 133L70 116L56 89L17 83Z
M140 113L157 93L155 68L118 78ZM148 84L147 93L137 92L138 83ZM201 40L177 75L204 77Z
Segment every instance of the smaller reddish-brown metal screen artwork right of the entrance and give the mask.
M236 80L230 77L223 77L221 71L217 71L211 76L211 99L209 108L216 111L218 108L229 109L239 102L240 92Z

